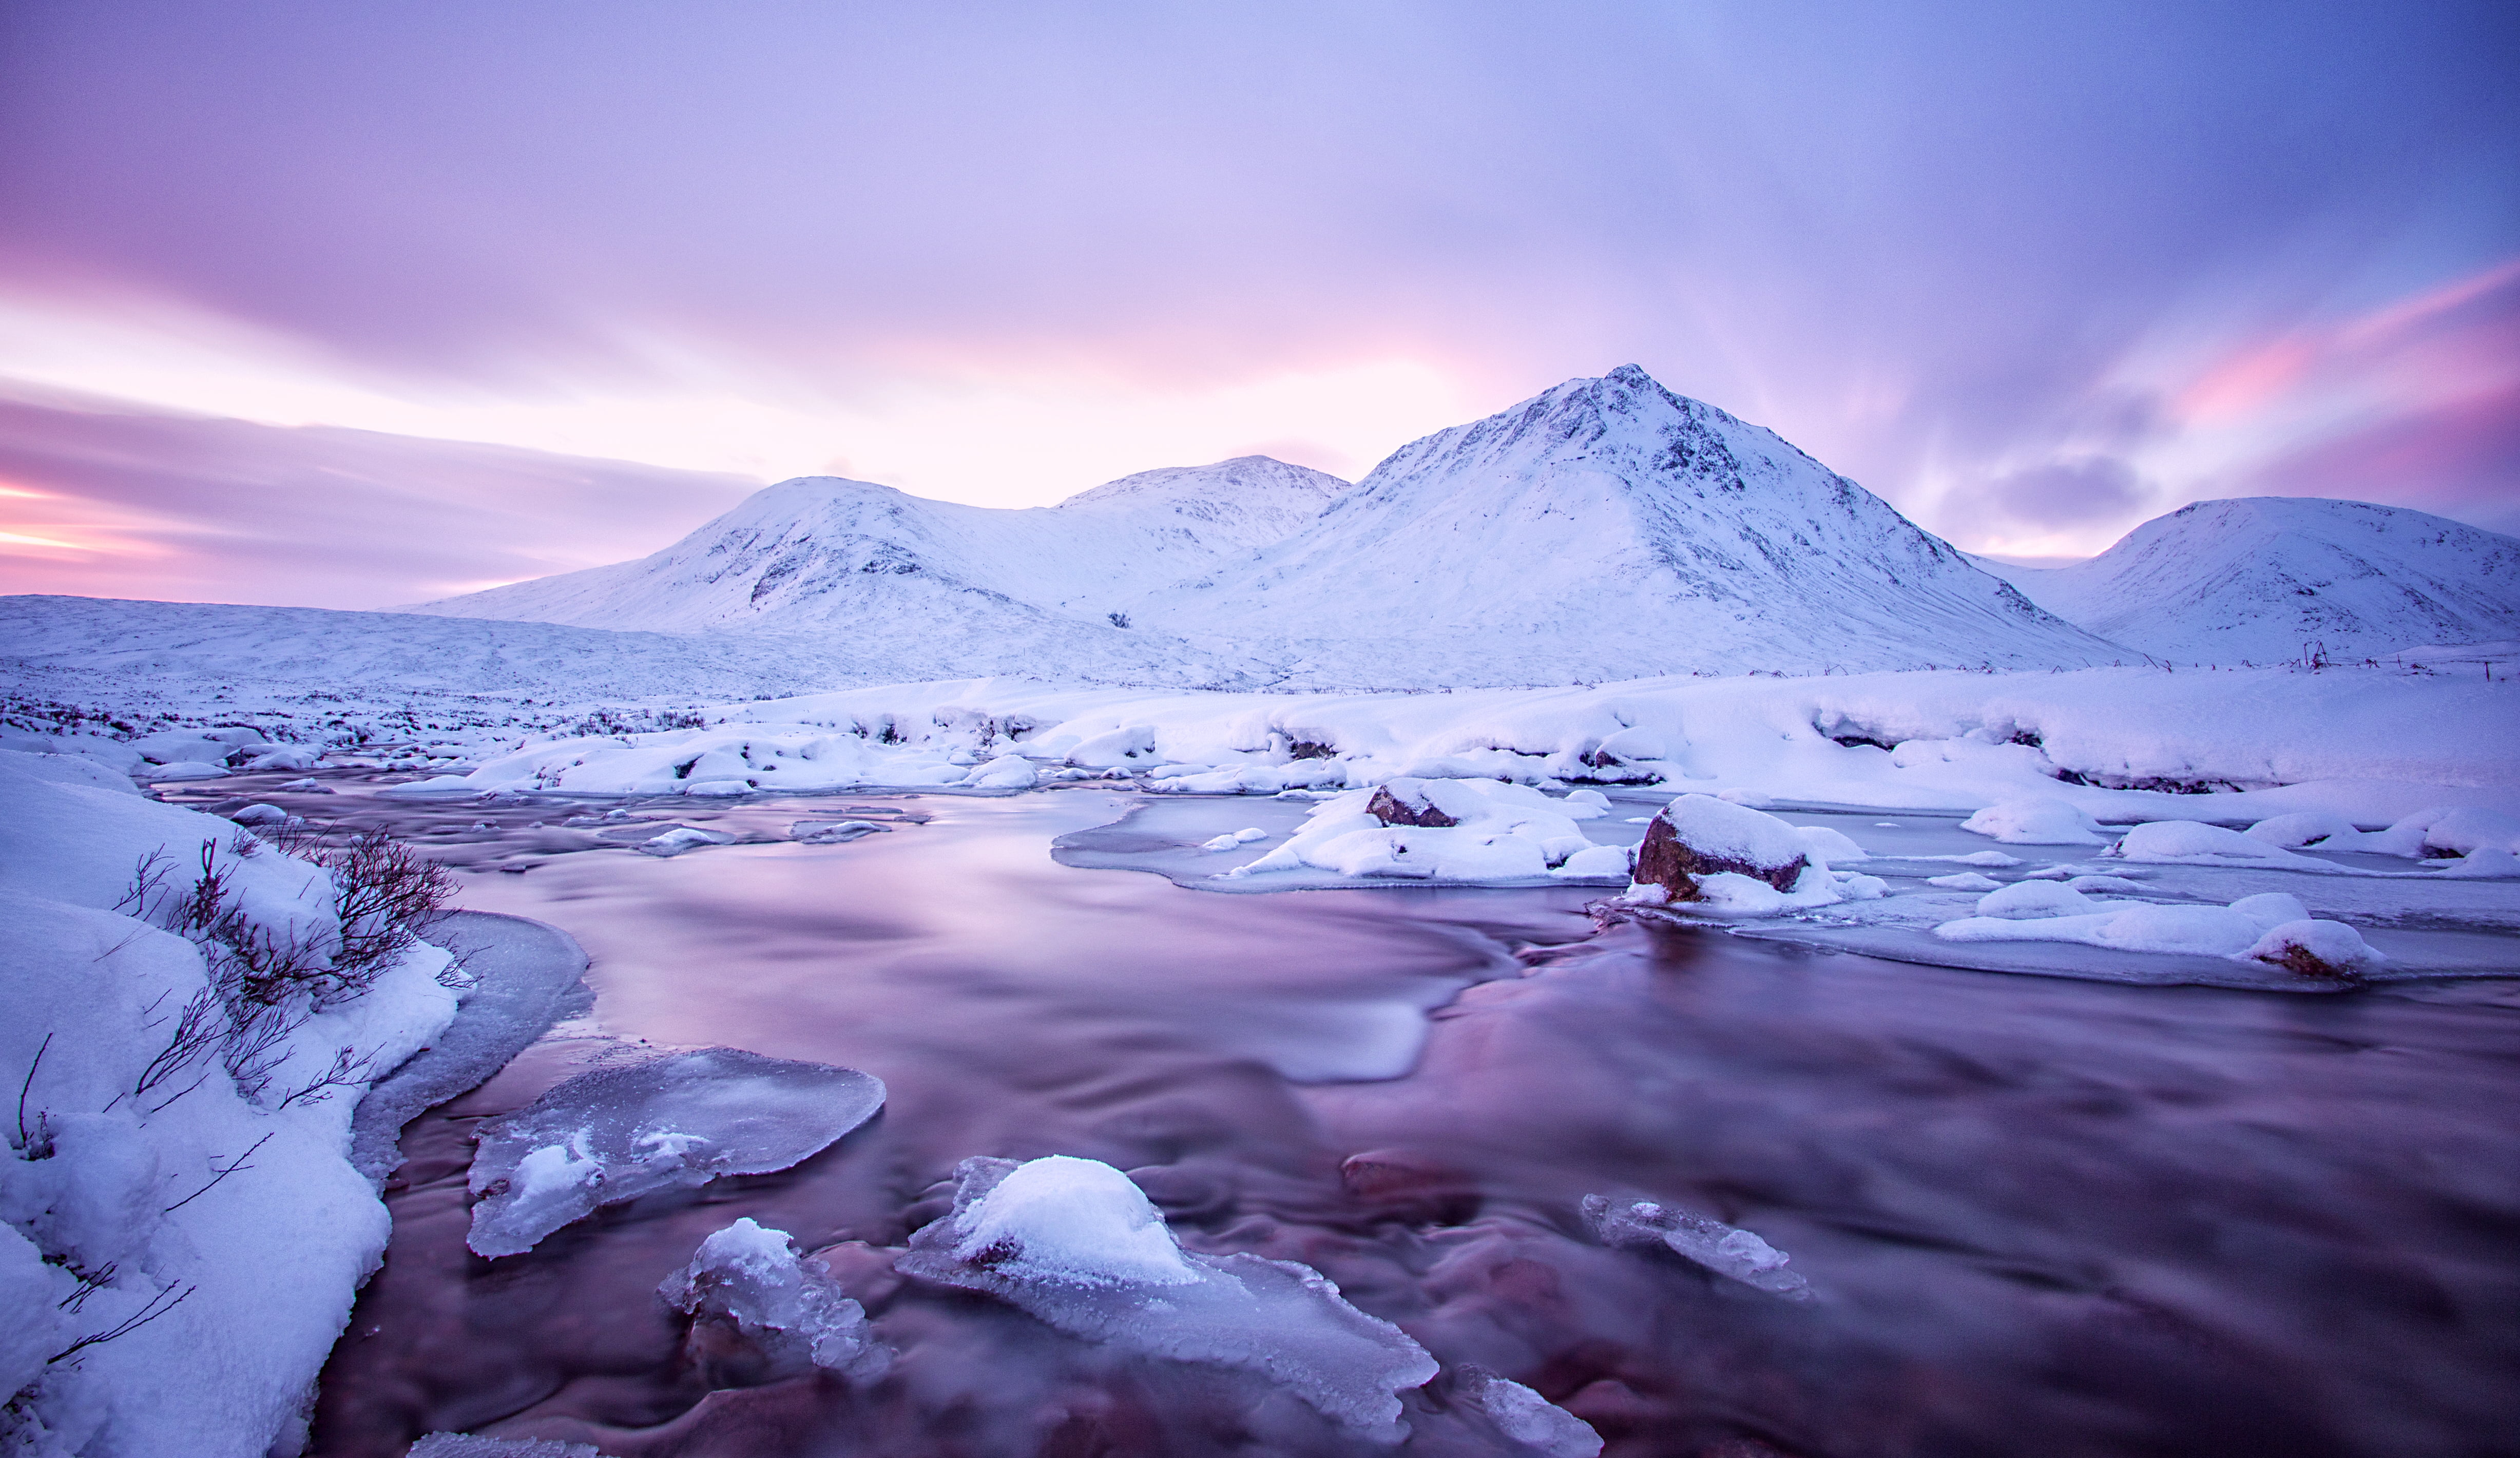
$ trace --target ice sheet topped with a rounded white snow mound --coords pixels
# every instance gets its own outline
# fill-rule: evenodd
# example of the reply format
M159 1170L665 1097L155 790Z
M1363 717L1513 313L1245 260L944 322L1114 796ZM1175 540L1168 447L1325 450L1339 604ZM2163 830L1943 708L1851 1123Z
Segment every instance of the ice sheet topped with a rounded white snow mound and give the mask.
M1091 1158L965 1158L955 1181L953 1214L910 1236L897 1272L1094 1342L1245 1367L1361 1438L1406 1438L1396 1393L1434 1377L1434 1357L1320 1272L1184 1252L1129 1176Z

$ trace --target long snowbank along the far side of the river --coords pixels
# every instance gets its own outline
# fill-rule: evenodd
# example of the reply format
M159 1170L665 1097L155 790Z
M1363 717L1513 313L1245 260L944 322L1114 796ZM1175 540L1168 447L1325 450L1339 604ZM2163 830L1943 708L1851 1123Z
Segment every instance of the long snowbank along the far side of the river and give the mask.
M955 680L723 705L708 728L532 740L423 793L693 786L1167 793L1394 778L1653 783L1749 801L2084 823L2520 813L2520 687L2384 670L1875 672L1600 687L1257 695ZM1993 828L1996 821L1986 826ZM2026 823L2013 834L2029 834Z

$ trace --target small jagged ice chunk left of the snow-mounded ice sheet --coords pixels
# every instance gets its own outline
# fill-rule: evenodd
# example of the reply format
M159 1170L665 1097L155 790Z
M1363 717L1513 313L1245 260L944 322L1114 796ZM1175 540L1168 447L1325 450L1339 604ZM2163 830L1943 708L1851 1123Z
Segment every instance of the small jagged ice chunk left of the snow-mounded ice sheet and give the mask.
M786 1231L751 1219L701 1241L655 1294L683 1314L731 1320L774 1357L806 1357L859 1382L892 1365L892 1350L867 1330L867 1309L839 1289L832 1267L801 1259Z

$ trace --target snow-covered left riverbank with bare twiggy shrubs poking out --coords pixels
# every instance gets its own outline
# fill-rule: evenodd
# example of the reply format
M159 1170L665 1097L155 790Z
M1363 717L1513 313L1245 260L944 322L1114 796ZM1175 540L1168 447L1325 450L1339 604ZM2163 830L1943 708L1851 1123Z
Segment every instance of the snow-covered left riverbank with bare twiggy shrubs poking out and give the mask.
M401 942L323 985L333 874L93 763L0 753L0 1443L260 1458L386 1246L353 1105L459 977Z

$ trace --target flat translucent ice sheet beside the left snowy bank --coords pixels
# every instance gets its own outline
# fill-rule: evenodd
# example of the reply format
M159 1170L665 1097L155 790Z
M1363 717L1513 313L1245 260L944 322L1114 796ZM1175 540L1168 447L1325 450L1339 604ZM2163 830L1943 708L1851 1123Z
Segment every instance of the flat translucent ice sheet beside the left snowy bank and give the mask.
M481 1126L464 1244L514 1257L597 1206L786 1168L882 1105L869 1073L736 1048L580 1073Z

